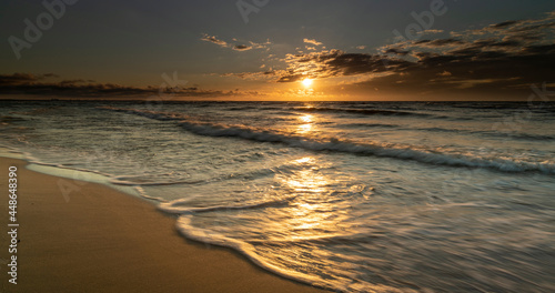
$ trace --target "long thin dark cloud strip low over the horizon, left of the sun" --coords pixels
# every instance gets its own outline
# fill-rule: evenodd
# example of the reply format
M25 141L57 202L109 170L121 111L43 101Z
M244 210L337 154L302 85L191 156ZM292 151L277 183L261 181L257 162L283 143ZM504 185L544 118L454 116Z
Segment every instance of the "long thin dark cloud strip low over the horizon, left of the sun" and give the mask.
M202 90L196 87L125 87L113 83L95 83L93 80L73 79L60 82L42 82L48 78L59 78L53 73L32 74L13 73L0 74L0 95L44 97L68 99L133 99L133 100L171 100L182 98L216 98L253 95L254 92ZM85 84L83 84L85 83Z

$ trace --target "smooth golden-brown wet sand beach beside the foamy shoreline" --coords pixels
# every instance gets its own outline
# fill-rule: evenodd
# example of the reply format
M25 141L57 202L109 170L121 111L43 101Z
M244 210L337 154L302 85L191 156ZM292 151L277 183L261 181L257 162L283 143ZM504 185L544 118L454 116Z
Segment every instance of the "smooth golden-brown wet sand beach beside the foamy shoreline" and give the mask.
M108 186L0 159L7 275L8 168L18 166L18 279L1 292L326 292L271 274L232 250L180 236L175 219ZM60 180L79 186L67 198ZM69 201L67 201L69 199Z

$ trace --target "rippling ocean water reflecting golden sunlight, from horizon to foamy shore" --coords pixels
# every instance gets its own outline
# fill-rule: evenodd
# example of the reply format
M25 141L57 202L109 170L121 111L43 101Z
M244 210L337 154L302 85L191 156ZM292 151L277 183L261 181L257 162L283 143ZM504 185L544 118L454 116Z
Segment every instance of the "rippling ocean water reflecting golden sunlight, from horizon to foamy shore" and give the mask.
M555 292L555 103L0 107L4 155L101 176L275 274L340 292Z

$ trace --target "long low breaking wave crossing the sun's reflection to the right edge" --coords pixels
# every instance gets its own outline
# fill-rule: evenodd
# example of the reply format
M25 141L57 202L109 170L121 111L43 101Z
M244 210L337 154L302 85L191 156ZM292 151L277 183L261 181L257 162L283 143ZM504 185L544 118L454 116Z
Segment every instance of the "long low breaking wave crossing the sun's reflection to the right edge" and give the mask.
M137 110L123 110L127 113L137 113L153 119L168 120L164 113L143 112ZM179 120L179 119L174 119ZM506 159L488 160L473 158L468 155L452 155L441 152L431 152L411 149L410 146L396 146L394 144L359 144L350 141L331 139L330 141L317 141L294 134L275 133L268 130L256 130L245 127L228 127L208 122L195 122L181 119L179 124L182 129L199 135L240 138L259 142L283 143L287 146L302 148L311 151L343 152L361 155L375 155L393 158L400 160L411 160L420 163L464 166L464 168L486 168L502 172L541 172L546 174L555 173L555 164L548 162L534 163L524 161L512 161Z

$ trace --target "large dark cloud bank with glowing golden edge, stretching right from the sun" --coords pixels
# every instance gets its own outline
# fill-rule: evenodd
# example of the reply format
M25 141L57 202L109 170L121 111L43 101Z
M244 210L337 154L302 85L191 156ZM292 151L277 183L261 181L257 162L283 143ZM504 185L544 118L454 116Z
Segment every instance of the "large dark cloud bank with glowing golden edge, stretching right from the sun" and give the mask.
M235 77L270 78L281 83L342 78L342 87L361 91L377 88L380 92L406 94L521 94L525 99L531 84L555 79L553 28L552 12L541 19L509 20L455 32L451 38L404 40L380 48L376 54L342 50L286 54L281 59L284 70Z

